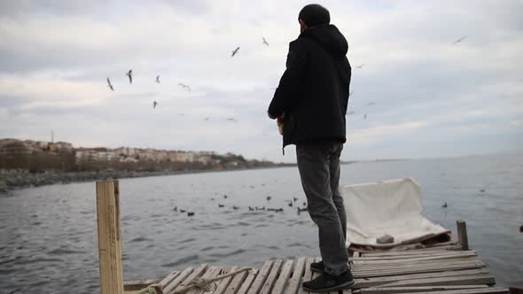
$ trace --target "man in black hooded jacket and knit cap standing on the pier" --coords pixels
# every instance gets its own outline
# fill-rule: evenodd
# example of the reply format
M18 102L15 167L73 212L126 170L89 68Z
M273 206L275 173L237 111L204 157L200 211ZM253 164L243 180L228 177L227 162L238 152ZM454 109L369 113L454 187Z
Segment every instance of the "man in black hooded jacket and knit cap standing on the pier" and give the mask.
M298 20L301 34L290 43L286 70L269 105L269 118L284 122L284 148L296 145L308 212L319 230L321 272L303 282L310 291L342 290L354 284L348 268L347 217L339 190L340 154L346 142L351 67L347 40L330 24L329 11L308 4Z

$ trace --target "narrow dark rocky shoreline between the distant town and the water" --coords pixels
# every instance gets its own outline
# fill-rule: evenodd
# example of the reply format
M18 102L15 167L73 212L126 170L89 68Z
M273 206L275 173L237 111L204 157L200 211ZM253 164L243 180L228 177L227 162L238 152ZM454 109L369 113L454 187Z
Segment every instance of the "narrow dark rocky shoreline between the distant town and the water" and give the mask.
M27 170L5 170L0 169L0 195L6 194L13 190L26 188L35 188L53 184L66 184L71 182L90 182L102 180L143 178L160 175L178 175L178 174L203 174L216 172L234 172L268 168L281 168L296 166L285 164L281 166L258 166L248 168L231 168L231 169L203 169L203 170L182 170L182 171L90 171L90 172L61 172L61 171L44 171L41 173L30 173Z

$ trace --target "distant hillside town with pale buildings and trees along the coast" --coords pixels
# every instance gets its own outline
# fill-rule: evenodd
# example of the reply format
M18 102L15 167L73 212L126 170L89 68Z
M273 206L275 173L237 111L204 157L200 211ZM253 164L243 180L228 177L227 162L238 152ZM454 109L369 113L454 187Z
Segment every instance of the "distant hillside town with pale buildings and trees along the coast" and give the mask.
M152 148L74 147L72 143L0 139L0 169L38 173L55 171L183 171L229 170L285 166L263 160L247 160L233 153L215 151L165 151Z

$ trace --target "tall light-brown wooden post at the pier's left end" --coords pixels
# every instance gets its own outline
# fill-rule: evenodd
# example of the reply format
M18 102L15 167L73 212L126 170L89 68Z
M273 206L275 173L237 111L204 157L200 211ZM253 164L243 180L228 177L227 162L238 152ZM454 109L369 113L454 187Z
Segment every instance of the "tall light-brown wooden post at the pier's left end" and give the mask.
M97 182L101 294L123 294L118 181Z

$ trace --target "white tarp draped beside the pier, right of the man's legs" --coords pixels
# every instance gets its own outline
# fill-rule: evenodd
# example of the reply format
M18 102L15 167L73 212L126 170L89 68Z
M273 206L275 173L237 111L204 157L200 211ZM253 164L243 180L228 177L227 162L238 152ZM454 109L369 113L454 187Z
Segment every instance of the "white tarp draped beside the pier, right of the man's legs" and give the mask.
M347 247L418 243L449 230L425 219L421 187L413 179L355 184L340 187L347 211ZM394 237L393 244L377 244L376 238Z

